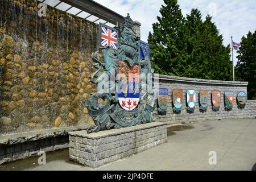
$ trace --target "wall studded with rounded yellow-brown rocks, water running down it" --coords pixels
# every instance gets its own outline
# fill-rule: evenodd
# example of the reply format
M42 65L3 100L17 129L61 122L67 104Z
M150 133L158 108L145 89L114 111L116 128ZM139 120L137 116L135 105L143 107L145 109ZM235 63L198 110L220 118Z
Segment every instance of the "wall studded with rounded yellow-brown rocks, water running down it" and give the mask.
M39 2L0 2L0 135L92 123L96 24Z

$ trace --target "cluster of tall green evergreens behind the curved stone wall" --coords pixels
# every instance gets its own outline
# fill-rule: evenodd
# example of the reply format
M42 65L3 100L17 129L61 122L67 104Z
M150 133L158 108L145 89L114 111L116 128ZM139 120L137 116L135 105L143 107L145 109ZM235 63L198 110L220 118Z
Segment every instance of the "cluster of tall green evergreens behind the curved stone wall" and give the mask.
M156 73L212 80L232 80L230 46L208 15L192 9L184 18L177 0L164 0L158 22L148 36Z

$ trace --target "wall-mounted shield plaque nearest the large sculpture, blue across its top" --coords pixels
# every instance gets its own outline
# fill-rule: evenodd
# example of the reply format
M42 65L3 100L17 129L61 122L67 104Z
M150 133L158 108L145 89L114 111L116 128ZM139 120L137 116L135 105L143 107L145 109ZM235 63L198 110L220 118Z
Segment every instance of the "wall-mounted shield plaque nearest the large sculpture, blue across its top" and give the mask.
M169 102L168 89L159 88L158 89L158 112L159 113L166 114L168 102Z

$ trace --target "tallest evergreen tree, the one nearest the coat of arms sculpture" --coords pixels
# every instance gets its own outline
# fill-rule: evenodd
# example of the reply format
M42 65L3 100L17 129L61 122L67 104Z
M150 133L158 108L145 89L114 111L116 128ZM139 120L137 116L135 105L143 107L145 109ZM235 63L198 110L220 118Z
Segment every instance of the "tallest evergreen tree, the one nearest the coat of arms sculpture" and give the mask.
M183 41L184 17L177 0L164 0L166 6L162 6L157 17L158 23L154 23L154 33L149 34L151 57L154 60L152 66L156 73L165 75L182 76L185 71L185 57L183 57L180 45Z

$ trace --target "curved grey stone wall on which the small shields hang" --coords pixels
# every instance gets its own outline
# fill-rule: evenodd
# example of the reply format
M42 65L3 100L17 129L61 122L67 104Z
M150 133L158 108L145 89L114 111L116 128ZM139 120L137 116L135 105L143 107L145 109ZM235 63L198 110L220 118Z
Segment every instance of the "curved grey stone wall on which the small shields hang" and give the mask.
M159 88L167 88L169 90L169 103L167 106L167 113L164 115L158 114L156 110L154 117L156 121L167 121L171 124L174 123L188 123L194 121L208 121L220 119L233 119L233 118L255 118L256 102L247 101L244 109L238 109L236 97L238 92L247 93L247 82L231 82L231 81L213 81L213 80L200 80L194 78L183 78L174 76L155 75L159 78ZM183 107L180 114L174 113L172 107L172 90L183 89ZM187 90L196 90L196 107L193 113L187 112L186 94ZM208 90L208 109L204 113L199 108L199 91ZM213 90L221 91L221 105L219 111L212 110L211 93ZM232 91L234 93L234 105L231 111L226 111L224 106L224 92Z

